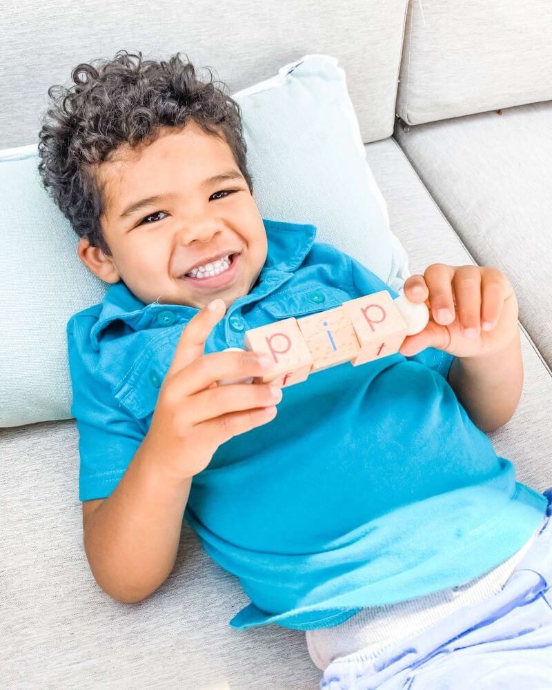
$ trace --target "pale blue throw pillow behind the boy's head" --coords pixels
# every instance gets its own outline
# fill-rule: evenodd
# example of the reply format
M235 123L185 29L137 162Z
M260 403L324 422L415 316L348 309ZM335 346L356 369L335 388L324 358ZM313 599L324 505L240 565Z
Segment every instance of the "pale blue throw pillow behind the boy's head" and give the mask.
M408 257L389 229L337 59L306 55L233 94L264 218L317 226L395 290ZM37 132L38 142L38 132ZM77 256L78 237L43 188L37 144L0 151L0 426L71 418L66 324L108 284Z

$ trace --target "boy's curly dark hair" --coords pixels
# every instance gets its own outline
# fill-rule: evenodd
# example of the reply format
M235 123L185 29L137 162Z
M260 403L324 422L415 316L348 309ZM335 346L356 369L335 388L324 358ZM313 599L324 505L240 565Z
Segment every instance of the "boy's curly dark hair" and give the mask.
M132 58L138 58L137 63ZM186 60L179 52L168 61L155 61L143 60L141 51L136 55L119 50L112 60L93 61L97 67L77 65L70 88L56 84L48 89L54 103L41 121L39 174L77 235L108 257L112 253L99 222L106 197L93 166L121 144L152 144L162 127L180 129L193 120L204 132L226 141L253 191L239 104L225 92L223 82L217 79L215 86L211 70L210 81L200 81L187 55ZM57 97L55 88L61 89Z

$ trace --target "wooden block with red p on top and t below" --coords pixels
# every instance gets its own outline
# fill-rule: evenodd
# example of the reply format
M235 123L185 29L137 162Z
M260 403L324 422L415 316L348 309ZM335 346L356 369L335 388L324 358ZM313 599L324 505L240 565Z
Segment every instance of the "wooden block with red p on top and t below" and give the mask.
M359 353L351 359L353 366L399 351L408 326L387 290L348 299L342 308L351 319L360 344Z

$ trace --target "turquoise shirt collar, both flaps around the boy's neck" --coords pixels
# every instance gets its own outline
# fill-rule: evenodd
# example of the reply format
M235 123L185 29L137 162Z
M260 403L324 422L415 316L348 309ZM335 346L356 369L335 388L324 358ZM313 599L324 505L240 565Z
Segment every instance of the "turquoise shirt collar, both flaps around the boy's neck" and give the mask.
M316 226L311 224L286 223L266 218L262 221L266 230L266 261L257 284L249 293L248 301L253 301L256 295L260 299L282 284L288 274L302 264L316 236ZM240 297L234 304L244 299L245 296ZM139 331L150 325L157 311L166 309L168 306L172 309L176 308L181 313L183 322L199 312L198 308L185 304L168 305L158 302L145 304L128 289L122 280L111 284L101 302L98 320L90 331L92 346L99 349L103 332L112 322L121 320L135 331Z

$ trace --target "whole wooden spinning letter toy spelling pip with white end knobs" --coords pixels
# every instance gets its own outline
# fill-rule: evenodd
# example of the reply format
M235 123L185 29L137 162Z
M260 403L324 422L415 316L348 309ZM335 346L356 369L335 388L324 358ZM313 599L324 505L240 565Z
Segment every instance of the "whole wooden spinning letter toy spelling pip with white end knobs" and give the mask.
M411 302L405 295L393 299L380 290L327 311L246 331L243 349L268 353L274 366L259 379L285 388L343 362L358 366L393 355L404 338L423 331L428 320L425 302ZM253 378L223 379L218 384L241 382L252 383Z

